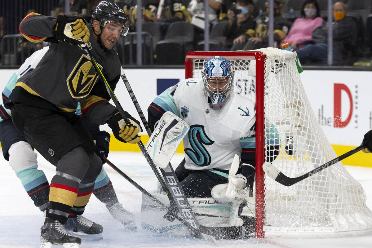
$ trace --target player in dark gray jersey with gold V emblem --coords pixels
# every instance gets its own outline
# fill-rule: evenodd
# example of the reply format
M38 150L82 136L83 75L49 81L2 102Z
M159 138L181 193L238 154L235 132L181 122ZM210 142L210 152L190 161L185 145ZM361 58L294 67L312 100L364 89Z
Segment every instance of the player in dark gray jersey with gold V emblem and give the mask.
M20 23L32 41L54 42L35 70L17 81L6 104L18 131L46 160L56 166L51 180L47 217L41 228L42 247L78 247L81 239L66 231L69 215L81 215L102 169L95 145L75 111L81 105L90 122L108 123L122 142L135 144L140 124L125 124L99 80L89 55L78 45L89 41L91 53L112 89L120 77L118 54L112 49L128 32L127 16L118 6L101 1L92 14L92 28L76 16L58 18L31 13Z

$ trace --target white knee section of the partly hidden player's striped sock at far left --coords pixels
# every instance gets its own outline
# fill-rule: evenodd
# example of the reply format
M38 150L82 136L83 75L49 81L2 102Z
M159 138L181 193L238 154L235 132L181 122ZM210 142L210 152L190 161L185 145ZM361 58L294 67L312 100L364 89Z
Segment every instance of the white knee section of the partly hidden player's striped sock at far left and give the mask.
M9 165L15 172L35 166L38 155L33 151L30 144L18 141L9 148Z

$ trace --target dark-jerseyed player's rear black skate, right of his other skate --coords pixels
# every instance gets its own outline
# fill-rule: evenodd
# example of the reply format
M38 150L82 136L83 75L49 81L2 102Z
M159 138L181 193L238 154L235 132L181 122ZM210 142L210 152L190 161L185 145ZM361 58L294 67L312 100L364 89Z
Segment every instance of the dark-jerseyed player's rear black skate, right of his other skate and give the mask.
M68 231L73 231L75 236L83 239L103 239L103 227L81 215L76 218L68 218L65 228Z

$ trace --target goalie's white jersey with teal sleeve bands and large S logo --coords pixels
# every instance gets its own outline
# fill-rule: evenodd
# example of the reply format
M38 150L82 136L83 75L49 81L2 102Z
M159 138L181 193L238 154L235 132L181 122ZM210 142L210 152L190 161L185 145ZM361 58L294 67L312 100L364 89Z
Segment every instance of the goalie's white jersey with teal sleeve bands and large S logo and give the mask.
M190 125L183 140L186 169L229 170L234 154L240 155L242 147L255 147L255 104L239 94L231 94L221 110L213 110L206 101L202 79L191 78L170 87L153 103Z

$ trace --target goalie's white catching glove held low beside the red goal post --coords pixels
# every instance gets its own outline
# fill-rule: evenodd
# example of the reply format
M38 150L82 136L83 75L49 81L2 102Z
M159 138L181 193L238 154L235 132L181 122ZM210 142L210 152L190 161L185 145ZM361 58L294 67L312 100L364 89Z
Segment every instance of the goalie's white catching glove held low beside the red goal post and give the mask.
M249 196L248 191L244 190L247 184L247 178L242 174L237 174L239 168L239 156L235 154L232 160L228 175L228 183L217 184L211 190L212 197L218 202L242 203Z

